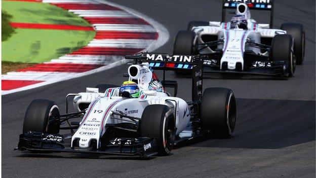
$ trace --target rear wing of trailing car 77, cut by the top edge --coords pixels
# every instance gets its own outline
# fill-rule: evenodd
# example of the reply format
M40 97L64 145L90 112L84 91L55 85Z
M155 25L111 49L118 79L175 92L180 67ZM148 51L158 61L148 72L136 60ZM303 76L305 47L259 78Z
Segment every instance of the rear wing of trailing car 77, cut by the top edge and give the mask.
M226 9L236 9L239 3L247 4L249 9L270 11L270 28L272 28L274 0L223 0L222 22L226 21Z

